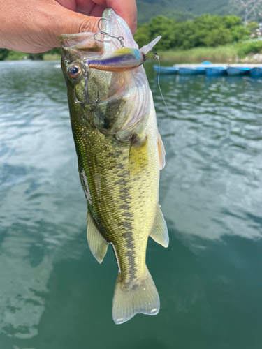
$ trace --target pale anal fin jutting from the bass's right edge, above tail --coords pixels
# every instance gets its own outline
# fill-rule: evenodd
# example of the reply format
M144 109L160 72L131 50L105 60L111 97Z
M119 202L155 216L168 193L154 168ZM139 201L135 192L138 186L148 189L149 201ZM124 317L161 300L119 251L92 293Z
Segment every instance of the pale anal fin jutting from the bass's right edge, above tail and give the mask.
M165 218L163 218L163 214L159 205L157 205L156 217L154 218L154 226L150 236L158 244L161 244L163 247L168 247L168 227L166 226L166 221Z

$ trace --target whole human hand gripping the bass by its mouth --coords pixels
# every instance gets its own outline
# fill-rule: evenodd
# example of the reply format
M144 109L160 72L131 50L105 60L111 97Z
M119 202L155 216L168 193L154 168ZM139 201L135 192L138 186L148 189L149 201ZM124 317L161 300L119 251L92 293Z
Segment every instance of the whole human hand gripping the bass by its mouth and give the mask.
M0 47L38 53L59 47L60 34L96 32L105 8L136 31L136 0L0 0Z

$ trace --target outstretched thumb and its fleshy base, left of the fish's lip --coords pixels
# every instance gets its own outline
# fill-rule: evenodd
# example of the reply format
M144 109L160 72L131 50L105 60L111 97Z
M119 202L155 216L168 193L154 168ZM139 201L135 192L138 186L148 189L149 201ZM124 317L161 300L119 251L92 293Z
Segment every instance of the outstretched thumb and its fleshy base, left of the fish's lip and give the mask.
M99 17L75 13L55 0L1 1L0 47L39 53L59 47L60 34L97 31Z

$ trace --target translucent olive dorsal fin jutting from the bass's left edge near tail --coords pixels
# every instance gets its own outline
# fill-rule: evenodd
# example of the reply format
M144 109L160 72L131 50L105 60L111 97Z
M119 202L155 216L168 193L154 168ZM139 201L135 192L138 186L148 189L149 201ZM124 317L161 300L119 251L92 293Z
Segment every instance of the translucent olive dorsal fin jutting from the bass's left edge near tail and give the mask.
M99 263L103 262L105 253L108 251L108 242L105 241L101 232L99 232L99 228L97 228L89 210L87 211L87 242L94 258Z

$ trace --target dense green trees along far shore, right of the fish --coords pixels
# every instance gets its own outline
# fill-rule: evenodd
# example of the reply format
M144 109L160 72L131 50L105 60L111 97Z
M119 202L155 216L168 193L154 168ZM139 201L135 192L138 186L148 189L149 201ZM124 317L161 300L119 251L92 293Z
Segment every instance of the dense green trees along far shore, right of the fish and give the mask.
M201 15L193 21L177 23L163 15L140 24L134 36L139 47L161 35L156 50L189 50L194 47L217 47L248 40L250 30L238 16Z

